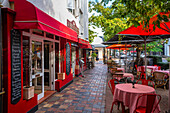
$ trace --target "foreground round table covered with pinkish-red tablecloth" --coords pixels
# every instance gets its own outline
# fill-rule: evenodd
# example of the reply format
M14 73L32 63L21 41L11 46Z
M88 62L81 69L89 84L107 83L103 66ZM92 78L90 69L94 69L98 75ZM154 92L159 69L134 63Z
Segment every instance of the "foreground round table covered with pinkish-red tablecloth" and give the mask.
M135 88L132 88L131 83L117 84L114 91L113 101L121 101L126 107L129 108L129 112L133 113L136 108L136 101L138 97L146 93L156 93L155 89L150 86L135 84ZM139 100L138 105L143 105L146 102L146 98ZM156 102L155 102L156 104ZM160 111L159 105L155 109L154 113Z

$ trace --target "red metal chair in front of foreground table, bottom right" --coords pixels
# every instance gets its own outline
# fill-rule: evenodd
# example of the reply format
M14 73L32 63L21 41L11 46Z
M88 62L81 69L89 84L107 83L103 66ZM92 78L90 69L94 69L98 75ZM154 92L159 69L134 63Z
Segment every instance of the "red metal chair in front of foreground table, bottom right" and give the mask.
M159 97L158 100L157 100L157 97ZM138 106L139 100L144 99L144 98L147 98L145 105ZM155 100L156 100L156 103L155 103ZM143 94L143 95L139 96L137 99L136 109L135 109L134 113L154 113L160 100L161 100L161 96L158 94Z

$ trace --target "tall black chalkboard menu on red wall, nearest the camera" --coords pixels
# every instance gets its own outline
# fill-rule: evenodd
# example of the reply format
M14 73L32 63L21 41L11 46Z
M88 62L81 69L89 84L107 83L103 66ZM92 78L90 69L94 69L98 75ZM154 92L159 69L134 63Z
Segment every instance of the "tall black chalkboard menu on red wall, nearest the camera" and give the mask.
M21 99L21 34L11 30L11 103Z

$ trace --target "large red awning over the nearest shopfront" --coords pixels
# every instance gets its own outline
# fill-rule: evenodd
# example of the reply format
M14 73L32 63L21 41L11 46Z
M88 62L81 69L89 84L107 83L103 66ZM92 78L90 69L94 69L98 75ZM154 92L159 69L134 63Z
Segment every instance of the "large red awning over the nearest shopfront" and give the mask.
M15 1L15 29L40 29L78 42L77 33L26 0Z

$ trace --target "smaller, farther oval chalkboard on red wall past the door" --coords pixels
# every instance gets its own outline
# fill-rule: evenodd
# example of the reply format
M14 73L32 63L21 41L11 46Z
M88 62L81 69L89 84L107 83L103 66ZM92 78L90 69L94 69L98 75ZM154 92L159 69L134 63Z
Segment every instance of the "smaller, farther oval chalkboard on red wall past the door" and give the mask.
M70 74L70 45L66 44L66 74Z

